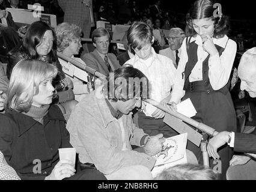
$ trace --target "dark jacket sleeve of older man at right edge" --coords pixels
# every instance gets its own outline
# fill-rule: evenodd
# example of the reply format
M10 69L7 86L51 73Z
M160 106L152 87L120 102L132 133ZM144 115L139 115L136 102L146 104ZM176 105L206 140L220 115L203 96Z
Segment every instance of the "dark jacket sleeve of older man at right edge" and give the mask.
M235 133L234 151L256 154L256 135Z

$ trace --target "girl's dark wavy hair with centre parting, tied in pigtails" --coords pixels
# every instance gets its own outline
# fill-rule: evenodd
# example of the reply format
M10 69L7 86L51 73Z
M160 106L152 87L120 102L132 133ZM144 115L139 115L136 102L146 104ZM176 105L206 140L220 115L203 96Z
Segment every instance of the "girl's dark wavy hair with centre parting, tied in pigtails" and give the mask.
M188 36L194 36L197 34L192 24L194 19L212 19L214 21L214 32L213 37L222 38L224 35L228 34L230 30L229 17L221 14L218 17L214 17L213 13L216 8L213 8L213 5L216 2L214 0L197 0L192 4L192 7L189 10L189 13L186 15L186 33Z

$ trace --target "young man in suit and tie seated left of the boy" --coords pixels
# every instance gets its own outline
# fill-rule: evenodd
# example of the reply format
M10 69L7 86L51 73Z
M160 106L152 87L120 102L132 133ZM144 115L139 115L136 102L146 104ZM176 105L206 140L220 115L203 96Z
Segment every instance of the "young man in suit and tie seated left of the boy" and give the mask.
M108 76L109 72L120 68L117 57L113 53L108 53L110 35L105 28L97 28L92 34L93 46L96 49L91 53L85 53L81 59L88 67L94 68L100 73Z

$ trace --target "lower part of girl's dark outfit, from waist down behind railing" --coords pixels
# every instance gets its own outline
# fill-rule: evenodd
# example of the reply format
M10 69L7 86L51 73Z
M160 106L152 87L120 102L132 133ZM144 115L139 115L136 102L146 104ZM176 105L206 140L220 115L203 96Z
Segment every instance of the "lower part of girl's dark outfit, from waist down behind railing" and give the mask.
M229 92L224 95L219 91L211 92L210 94L207 92L187 91L183 100L186 100L186 98L190 98L197 110L197 115L192 117L195 121L203 122L218 132L236 131L236 113L234 112L234 106ZM207 139L207 134L204 135L204 139ZM203 164L203 156L200 148L188 140L187 149L194 152L198 158L198 163ZM221 162L213 161L210 158L210 167L215 170L216 166L221 166L219 179L225 179L229 161L233 156L233 148L224 145L218 149L218 153Z

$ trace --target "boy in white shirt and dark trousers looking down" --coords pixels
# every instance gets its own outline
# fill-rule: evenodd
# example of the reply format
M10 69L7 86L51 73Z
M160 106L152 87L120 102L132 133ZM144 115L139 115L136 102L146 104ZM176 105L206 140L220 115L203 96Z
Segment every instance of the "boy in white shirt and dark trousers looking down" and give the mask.
M151 46L154 43L152 29L144 22L133 23L128 30L127 40L135 56L126 64L133 65L147 76L150 98L160 103L168 102L175 82L176 69L171 59L154 51ZM163 122L165 112L151 104L144 104L143 112L138 112L139 128L150 136L162 133L163 137L168 138L177 134Z

